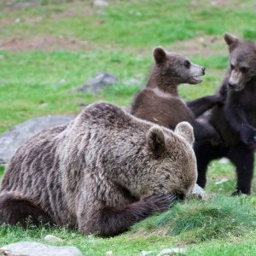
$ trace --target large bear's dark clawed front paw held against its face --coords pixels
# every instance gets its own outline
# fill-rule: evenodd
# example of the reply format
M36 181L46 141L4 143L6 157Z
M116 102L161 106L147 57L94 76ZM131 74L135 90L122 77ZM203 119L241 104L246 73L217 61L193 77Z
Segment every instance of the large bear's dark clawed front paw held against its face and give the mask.
M152 207L153 212L163 212L169 209L172 202L177 201L178 196L173 194L161 194L161 195L151 195L143 198L142 201L146 202Z

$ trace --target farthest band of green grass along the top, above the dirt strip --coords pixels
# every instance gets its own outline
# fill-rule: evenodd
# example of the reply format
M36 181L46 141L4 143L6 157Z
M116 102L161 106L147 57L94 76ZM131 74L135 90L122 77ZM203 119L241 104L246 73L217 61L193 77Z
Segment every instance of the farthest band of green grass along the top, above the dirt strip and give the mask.
M18 14L21 20L3 27L2 33L3 37L15 34L20 38L49 34L136 48L166 45L201 34L219 35L226 30L255 38L253 1L229 2L212 6L203 0L196 3L186 0L117 1L102 15L97 14L97 9L91 9L89 1L75 5L44 4L1 15L16 18ZM76 15L61 15L67 7ZM55 14L59 14L58 18ZM35 23L33 18L37 15L41 20Z

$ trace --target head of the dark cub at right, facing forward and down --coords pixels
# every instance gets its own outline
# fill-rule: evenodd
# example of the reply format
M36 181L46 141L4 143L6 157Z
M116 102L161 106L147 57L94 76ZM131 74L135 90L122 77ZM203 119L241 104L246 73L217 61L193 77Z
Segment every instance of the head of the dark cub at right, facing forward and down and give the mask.
M224 40L230 51L228 86L230 90L243 90L251 79L256 78L256 45L241 41L227 32L224 33Z

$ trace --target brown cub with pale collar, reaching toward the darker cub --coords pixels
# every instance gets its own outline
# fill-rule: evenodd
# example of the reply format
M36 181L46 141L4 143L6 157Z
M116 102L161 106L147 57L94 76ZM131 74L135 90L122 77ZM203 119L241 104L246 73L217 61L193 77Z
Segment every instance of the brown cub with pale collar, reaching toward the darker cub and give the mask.
M204 96L186 104L177 93L178 84L201 83L205 67L161 47L154 49L154 62L148 84L135 98L131 113L172 130L178 123L187 121L194 128L195 140L218 141L218 133L212 125L196 120L196 117L221 102L221 97Z

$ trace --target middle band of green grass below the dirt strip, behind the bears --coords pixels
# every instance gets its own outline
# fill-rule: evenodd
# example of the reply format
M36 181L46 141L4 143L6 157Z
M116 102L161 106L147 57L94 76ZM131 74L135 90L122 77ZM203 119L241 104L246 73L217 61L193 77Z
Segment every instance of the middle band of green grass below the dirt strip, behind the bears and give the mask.
M131 78L145 84L152 66L151 51L148 56L122 51L70 52L25 51L11 53L1 51L0 61L0 132L28 118L54 113L78 113L79 104L95 101L114 102L121 106L131 104L139 90L137 85L127 85ZM217 57L191 57L196 63L211 67ZM218 61L225 67L226 57ZM212 71L219 66L212 65ZM10 70L12 72L10 72ZM96 73L114 73L119 83L97 95L71 92L73 88L94 77ZM180 93L185 99L212 94L221 77L207 74L205 83L182 85Z

